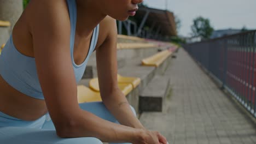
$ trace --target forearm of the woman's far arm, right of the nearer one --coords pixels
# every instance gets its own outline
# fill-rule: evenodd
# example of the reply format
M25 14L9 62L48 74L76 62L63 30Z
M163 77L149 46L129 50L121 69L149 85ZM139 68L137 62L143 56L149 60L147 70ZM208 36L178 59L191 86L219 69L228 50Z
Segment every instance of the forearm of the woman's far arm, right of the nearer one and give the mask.
M116 91L111 95L112 97L103 99L103 103L118 122L128 127L144 129L141 122L131 111L130 104L125 95L121 91Z

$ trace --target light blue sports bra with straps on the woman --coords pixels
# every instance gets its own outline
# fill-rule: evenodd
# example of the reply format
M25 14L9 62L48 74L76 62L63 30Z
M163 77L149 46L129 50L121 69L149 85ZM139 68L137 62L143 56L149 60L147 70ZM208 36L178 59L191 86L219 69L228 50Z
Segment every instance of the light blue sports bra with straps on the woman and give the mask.
M75 80L78 83L78 81L82 79L88 59L97 44L99 25L95 27L94 32L92 33L91 44L85 61L80 65L75 64L73 58L73 48L75 26L77 23L77 5L75 0L67 0L67 4L71 22L70 51ZM45 73L47 73L47 71L45 71ZM7 83L9 83L10 86L14 87L19 92L36 99L44 99L44 95L38 80L34 58L22 55L22 53L15 48L12 36L10 36L0 55L0 75Z

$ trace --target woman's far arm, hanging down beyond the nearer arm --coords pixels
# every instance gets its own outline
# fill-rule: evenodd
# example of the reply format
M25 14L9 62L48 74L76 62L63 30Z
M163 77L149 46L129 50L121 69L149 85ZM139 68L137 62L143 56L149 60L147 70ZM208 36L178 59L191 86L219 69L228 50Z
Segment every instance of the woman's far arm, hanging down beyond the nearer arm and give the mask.
M106 35L103 44L96 50L98 81L103 103L121 124L144 129L132 113L125 95L118 88L116 21L107 16L100 25L100 31L105 31L101 34Z

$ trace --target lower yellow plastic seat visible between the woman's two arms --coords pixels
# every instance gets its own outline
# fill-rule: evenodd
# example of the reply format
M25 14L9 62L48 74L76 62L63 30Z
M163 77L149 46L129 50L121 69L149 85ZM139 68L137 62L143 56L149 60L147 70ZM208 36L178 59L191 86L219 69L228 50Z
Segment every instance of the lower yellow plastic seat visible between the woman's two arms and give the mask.
M83 85L77 86L77 99L78 103L102 101L100 92L92 91Z

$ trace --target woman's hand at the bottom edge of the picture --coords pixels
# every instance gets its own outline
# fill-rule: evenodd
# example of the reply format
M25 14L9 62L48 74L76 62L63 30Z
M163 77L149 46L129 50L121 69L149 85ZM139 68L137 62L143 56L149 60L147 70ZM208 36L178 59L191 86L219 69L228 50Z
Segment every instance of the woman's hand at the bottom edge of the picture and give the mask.
M158 131L143 130L140 139L133 144L167 144L167 140Z

